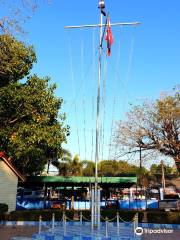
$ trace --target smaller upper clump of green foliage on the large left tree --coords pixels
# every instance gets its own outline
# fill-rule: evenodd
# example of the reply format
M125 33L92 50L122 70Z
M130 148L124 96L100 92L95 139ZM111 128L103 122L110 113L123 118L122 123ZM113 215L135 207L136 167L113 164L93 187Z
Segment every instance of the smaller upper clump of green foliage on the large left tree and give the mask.
M17 82L29 74L36 55L32 46L25 46L10 35L0 35L0 87Z

